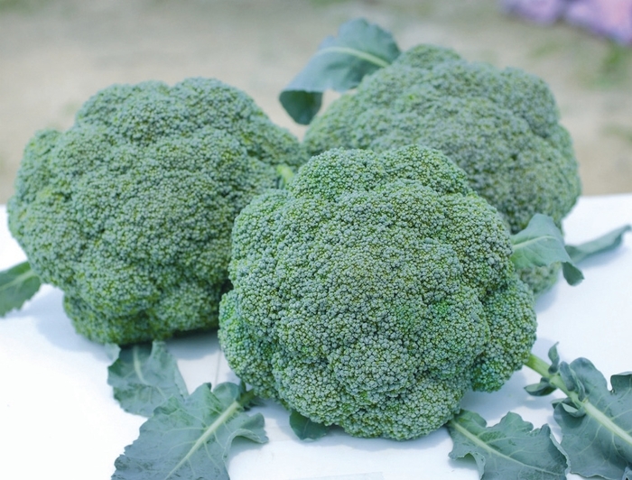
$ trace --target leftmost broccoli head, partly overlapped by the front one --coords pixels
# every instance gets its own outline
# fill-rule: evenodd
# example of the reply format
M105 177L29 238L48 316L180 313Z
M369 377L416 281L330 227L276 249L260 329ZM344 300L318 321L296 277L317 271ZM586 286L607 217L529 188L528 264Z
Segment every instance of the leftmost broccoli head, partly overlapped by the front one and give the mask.
M230 231L298 141L218 80L115 85L35 134L9 226L79 333L128 344L217 326Z

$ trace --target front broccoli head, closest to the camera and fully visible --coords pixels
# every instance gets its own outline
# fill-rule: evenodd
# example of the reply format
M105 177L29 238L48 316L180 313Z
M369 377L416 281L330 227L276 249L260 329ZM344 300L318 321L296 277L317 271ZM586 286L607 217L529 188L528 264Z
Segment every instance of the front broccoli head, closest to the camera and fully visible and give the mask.
M535 339L507 226L441 152L331 150L244 208L219 312L256 392L351 435L414 438Z

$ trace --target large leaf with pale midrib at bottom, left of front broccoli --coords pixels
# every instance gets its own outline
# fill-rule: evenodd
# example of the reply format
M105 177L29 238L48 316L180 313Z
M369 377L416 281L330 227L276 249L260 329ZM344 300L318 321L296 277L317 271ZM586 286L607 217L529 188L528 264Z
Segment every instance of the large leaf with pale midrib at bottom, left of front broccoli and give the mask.
M264 417L243 412L252 397L235 383L220 383L213 392L210 383L204 383L187 398L172 397L153 411L139 437L116 459L112 479L228 480L233 439L267 441Z

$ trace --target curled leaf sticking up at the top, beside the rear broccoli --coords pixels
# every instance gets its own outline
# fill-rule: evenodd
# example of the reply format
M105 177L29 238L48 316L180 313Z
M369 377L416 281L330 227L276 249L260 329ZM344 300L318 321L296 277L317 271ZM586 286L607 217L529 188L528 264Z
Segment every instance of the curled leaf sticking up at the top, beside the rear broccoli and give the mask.
M318 113L322 93L344 92L376 69L388 66L400 54L391 33L364 19L343 23L338 37L327 37L319 50L283 88L279 100L297 124L308 125Z

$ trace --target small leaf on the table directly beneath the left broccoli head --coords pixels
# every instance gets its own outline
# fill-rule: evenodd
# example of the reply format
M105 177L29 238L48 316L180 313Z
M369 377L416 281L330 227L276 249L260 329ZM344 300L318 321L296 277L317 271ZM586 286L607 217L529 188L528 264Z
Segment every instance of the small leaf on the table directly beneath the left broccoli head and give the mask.
M107 368L107 383L123 410L144 417L170 398L188 395L176 360L163 342L121 348Z

